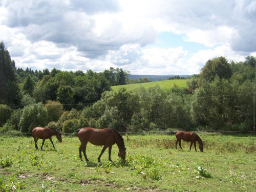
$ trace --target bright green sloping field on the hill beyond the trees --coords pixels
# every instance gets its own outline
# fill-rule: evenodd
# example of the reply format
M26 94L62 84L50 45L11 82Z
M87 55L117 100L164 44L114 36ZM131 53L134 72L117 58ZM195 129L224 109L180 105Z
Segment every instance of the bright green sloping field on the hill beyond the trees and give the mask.
M140 86L143 86L146 90L149 88L155 87L157 84L162 90L170 90L176 84L179 88L186 87L187 79L173 79L173 80L164 80L164 81L153 81L146 83L136 83L136 84L125 84L124 86L112 86L113 91L118 91L120 88L125 88L128 91L138 92Z

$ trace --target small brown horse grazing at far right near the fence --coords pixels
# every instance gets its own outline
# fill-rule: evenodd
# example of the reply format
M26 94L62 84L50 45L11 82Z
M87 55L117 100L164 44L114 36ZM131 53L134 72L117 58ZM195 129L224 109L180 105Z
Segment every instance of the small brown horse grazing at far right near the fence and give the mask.
M190 148L189 150L191 151L191 147L192 147L192 144L194 143L195 145L195 150L197 151L197 148L196 148L196 142L198 141L199 143L199 149L201 152L204 151L204 144L203 144L203 141L202 139L194 132L183 132L183 131L179 131L179 132L172 132L172 133L175 133L175 136L177 138L176 142L175 142L175 148L177 148L177 143L179 142L179 145L181 143L181 139L183 141L186 141L186 142L191 142L190 143ZM180 145L180 148L181 148L181 145ZM182 149L182 148L181 148Z

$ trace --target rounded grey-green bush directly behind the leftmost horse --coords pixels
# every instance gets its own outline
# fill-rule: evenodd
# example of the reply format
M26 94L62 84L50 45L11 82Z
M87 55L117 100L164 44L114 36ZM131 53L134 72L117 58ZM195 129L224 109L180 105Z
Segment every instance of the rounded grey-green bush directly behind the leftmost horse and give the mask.
M20 132L31 133L36 126L44 127L49 123L47 110L44 105L38 103L36 105L27 105L23 109L20 117Z

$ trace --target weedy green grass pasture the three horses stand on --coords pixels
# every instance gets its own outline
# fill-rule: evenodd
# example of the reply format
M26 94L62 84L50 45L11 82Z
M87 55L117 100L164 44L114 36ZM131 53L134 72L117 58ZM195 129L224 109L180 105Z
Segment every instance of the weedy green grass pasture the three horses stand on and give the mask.
M175 135L123 136L126 162L118 148L97 162L102 147L88 144L89 162L79 160L77 136L55 136L43 150L31 137L0 136L0 191L255 191L256 153L250 135L198 133L204 152L175 148ZM38 140L40 147L42 140ZM83 157L84 159L84 157Z

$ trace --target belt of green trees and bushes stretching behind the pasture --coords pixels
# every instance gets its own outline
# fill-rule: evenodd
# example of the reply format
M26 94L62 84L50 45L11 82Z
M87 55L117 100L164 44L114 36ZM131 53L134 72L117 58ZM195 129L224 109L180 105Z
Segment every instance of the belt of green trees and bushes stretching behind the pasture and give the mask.
M163 91L156 86L141 87L138 93L114 92L112 86L131 83L129 71L24 70L15 67L2 41L0 133L31 133L36 126L62 133L87 126L132 133L253 131L255 66L253 56L243 62L219 56L209 58L200 74L188 77L185 89Z

